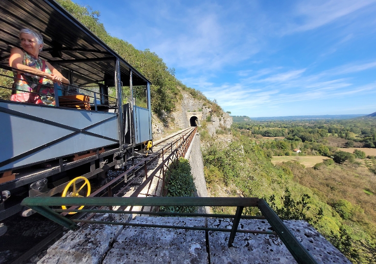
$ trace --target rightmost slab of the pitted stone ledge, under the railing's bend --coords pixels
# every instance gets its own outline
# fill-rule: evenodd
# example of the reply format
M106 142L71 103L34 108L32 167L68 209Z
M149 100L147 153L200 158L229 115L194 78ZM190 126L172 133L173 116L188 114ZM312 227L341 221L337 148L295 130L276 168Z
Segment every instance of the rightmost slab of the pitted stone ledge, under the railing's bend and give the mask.
M318 263L351 262L304 220L284 220L284 224L310 252ZM228 219L208 219L208 227L229 228ZM269 231L266 220L240 220L238 229ZM295 259L276 235L236 233L233 247L228 247L230 233L209 231L210 260L215 264L281 263L293 264Z

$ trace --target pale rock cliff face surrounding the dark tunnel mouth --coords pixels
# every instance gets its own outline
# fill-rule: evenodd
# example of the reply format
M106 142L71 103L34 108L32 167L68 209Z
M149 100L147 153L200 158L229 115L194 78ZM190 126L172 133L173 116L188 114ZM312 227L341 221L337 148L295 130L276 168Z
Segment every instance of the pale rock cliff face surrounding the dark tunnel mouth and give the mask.
M164 135L166 128L170 130L188 128L190 123L187 117L187 112L193 111L202 111L202 117L200 116L201 120L208 121L207 130L211 136L214 136L216 134L215 131L218 129L231 127L233 118L228 113L212 113L211 108L206 105L206 102L193 98L185 91L182 91L182 94L183 98L177 103L175 111L164 116L164 119L166 120L164 124L159 121L157 117L153 117L152 123L154 138Z

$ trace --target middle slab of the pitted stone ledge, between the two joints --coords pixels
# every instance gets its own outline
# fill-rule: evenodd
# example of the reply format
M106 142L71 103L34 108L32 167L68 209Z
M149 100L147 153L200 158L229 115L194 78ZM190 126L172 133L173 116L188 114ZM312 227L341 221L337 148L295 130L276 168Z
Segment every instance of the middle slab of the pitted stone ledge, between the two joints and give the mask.
M205 218L136 217L132 222L205 226ZM127 226L103 264L207 264L205 231Z

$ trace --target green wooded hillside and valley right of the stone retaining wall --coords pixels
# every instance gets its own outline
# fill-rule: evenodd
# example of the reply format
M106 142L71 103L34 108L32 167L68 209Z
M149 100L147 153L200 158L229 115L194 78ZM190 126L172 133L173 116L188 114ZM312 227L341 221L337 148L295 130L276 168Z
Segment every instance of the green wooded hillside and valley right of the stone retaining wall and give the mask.
M232 143L205 145L209 193L265 198L281 218L307 220L353 263L375 263L376 149L361 148L374 144L375 129L375 118L238 120ZM357 149L338 148L348 145ZM301 163L317 157L317 164Z

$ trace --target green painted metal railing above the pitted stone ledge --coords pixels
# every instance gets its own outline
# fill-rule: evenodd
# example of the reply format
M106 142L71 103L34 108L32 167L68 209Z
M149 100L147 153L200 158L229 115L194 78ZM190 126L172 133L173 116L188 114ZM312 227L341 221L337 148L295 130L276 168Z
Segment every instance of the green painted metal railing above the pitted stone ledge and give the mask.
M79 229L77 222L115 224L127 226L159 227L172 229L190 229L205 231L230 232L229 247L232 246L236 232L258 233L258 234L277 234L295 260L300 264L316 264L316 260L297 240L291 231L284 225L277 214L269 207L263 199L259 198L225 198L225 197L28 197L25 198L22 205L27 206L41 215L53 220L71 230ZM51 209L50 206L232 206L236 207L235 215L217 215L217 214L188 214L188 213L167 213L167 212L135 212L121 210L98 210L98 209ZM242 216L244 207L258 207L263 217L272 226L273 231L258 230L238 230L238 224L241 218L260 218ZM112 222L112 221L94 221L94 220L70 220L58 214L58 212L84 212L84 213L112 213L112 214L147 214L147 215L173 215L190 217L219 217L234 218L232 229L210 228L210 227L192 227L192 226L170 226L140 224L131 222Z

